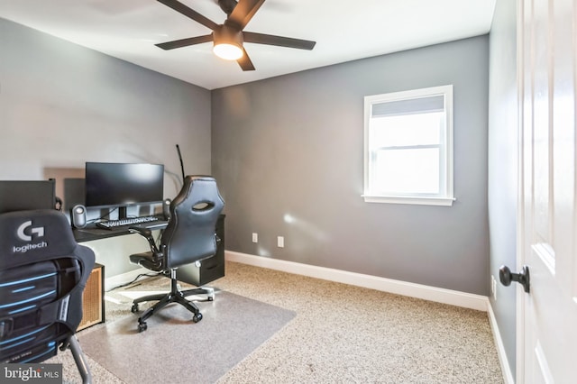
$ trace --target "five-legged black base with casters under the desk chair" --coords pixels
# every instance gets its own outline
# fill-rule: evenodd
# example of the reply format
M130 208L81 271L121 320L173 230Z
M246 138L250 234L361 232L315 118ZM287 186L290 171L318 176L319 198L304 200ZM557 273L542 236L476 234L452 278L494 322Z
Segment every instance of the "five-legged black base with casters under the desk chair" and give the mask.
M187 299L188 296L194 295L207 295L206 301L213 301L215 299L215 289L214 288L190 288L185 290L179 290L179 281L176 279L177 270L170 270L170 292L169 293L158 293L155 295L149 295L144 297L138 297L133 300L133 307L131 311L134 313L138 312L138 304L148 301L158 301L155 305L147 308L144 313L138 318L138 332L146 331L148 325L146 325L146 320L154 315L157 311L162 309L164 306L168 306L171 303L178 303L181 306L190 311L192 316L192 321L198 323L202 320L202 314L198 309L198 306Z

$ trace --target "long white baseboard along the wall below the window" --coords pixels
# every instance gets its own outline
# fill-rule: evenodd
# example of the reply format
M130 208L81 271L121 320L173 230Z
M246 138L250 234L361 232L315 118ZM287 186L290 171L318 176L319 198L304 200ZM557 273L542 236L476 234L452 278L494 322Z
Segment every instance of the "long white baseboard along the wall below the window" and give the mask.
M371 288L408 297L417 297L452 306L463 306L478 311L487 311L487 306L489 304L489 298L486 296L473 295L451 289L385 279L377 276L364 275L362 273L349 272L346 270L316 267L314 265L301 264L294 261L270 259L235 251L225 251L224 256L228 261L241 262L255 267L281 270L283 272L308 276L310 278L336 281L356 287Z

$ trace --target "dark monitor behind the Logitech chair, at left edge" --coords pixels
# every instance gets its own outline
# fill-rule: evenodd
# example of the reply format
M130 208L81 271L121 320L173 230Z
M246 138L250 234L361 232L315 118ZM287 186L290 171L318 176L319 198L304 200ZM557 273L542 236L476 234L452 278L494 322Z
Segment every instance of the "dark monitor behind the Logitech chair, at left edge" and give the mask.
M29 209L54 209L55 181L0 180L0 214Z

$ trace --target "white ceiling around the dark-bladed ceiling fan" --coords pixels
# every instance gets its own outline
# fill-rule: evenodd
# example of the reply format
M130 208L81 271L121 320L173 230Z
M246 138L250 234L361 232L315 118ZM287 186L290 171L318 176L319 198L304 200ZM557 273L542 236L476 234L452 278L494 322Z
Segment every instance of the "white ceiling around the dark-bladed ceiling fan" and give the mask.
M180 0L215 23L215 0ZM408 50L490 31L496 0L268 0L245 31L316 41L314 50L245 43L256 70L212 43L154 44L210 33L155 0L0 0L0 17L207 89Z

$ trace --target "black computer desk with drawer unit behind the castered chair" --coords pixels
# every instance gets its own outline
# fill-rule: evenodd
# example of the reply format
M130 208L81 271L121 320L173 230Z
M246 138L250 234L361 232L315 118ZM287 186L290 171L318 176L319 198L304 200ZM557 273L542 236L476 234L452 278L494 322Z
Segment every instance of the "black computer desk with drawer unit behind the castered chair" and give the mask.
M216 245L215 256L202 261L200 267L197 267L194 264L180 267L179 270L177 270L177 279L201 287L215 279L224 277L224 216L225 215L220 215L216 221L215 233L216 236L218 236L219 241ZM163 230L166 228L167 224L168 221L160 220L146 224L136 224L136 226L143 226L151 230ZM72 233L74 233L74 238L77 242L91 242L105 238L133 234L128 231L128 227L110 230L98 228L96 227L96 224L89 224L85 228L75 228ZM126 255L126 258L128 257L129 255Z

